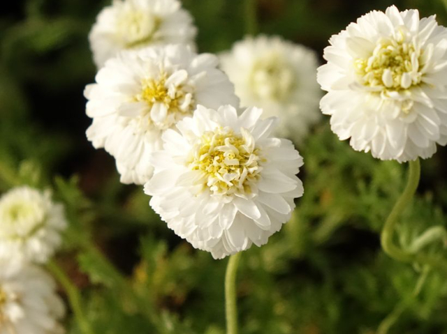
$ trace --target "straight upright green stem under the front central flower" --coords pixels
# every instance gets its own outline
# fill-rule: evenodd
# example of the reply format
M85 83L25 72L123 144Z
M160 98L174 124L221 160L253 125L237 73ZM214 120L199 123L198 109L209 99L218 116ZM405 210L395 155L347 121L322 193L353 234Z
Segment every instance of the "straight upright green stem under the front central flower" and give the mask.
M226 333L237 334L236 273L241 252L231 255L225 275Z

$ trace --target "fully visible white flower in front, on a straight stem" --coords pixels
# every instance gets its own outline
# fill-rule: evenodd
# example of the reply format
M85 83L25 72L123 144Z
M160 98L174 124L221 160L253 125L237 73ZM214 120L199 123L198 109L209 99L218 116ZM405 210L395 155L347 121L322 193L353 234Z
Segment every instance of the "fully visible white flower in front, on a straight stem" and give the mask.
M237 116L229 105L198 106L163 134L145 192L168 227L216 259L261 246L291 218L302 196L302 158L288 139L270 137L262 110Z

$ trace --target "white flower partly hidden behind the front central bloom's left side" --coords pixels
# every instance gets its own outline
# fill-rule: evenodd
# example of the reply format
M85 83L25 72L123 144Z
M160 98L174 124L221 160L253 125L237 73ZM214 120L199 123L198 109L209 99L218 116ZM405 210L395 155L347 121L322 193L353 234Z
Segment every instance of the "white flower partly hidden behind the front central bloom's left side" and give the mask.
M87 137L117 162L123 183L152 176L149 153L161 149L161 134L197 104L216 108L238 104L233 84L212 54L197 55L184 45L122 52L110 59L87 86Z

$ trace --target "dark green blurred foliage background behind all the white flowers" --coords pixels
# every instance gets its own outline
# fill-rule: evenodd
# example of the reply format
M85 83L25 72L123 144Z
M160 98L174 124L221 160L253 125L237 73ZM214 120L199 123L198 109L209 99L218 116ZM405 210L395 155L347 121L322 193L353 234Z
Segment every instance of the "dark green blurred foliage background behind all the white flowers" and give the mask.
M71 229L59 261L82 289L96 333L224 333L226 260L214 261L168 230L141 188L121 185L113 158L85 137L91 120L82 92L96 74L87 35L109 3L3 6L0 190L52 187L66 204ZM198 26L200 52L227 50L244 37L244 1L182 3ZM445 0L258 0L256 8L261 33L312 47L323 62L332 34L392 4L417 8L420 17L436 14L447 25ZM406 166L354 152L330 132L328 118L298 149L305 196L293 220L242 257L241 333L446 334L446 278L388 259L380 248ZM399 231L402 247L432 225L446 226L446 158L439 148L423 162L418 197ZM441 245L430 252L446 254ZM68 333L80 333L70 317L66 324Z

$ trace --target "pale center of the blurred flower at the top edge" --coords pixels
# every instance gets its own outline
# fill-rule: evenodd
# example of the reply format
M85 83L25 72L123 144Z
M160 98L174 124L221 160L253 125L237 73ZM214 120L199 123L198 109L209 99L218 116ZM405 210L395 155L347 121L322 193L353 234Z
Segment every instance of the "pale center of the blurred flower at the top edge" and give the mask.
M122 10L117 17L117 37L125 47L149 43L160 22L154 15L136 8Z

